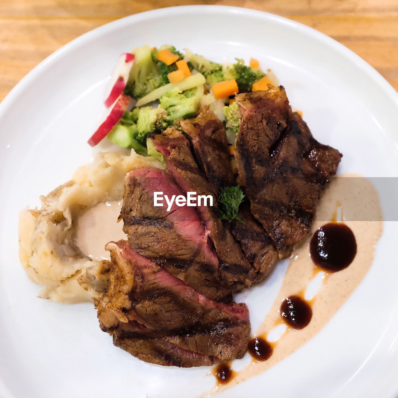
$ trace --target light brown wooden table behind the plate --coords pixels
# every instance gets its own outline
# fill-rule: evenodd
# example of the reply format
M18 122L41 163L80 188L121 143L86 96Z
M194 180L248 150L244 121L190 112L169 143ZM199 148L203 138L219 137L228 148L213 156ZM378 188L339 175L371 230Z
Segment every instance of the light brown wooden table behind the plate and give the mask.
M0 100L45 57L95 27L137 12L187 4L244 6L326 33L398 89L397 0L0 0Z

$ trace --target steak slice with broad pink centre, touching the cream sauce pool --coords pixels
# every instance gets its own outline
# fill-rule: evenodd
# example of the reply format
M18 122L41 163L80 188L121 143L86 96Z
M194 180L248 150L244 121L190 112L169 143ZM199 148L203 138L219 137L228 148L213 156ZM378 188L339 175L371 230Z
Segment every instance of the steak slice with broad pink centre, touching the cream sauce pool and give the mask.
M125 177L120 218L131 246L166 267L187 285L217 300L240 287L222 283L219 260L195 207L155 207L154 192L185 195L168 173L157 168L133 170Z

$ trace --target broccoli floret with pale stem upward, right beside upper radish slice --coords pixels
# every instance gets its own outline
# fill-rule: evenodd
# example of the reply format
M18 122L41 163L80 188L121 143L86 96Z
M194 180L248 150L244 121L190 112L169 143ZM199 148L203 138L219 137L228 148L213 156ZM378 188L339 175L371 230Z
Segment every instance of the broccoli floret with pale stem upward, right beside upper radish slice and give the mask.
M153 62L149 46L135 51L133 67L125 89L126 94L138 99L162 86L157 64Z

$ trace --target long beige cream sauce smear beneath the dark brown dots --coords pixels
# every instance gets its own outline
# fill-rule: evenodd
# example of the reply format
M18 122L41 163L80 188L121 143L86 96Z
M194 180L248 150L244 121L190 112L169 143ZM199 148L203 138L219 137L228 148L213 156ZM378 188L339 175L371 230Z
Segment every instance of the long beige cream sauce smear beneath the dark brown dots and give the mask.
M281 336L272 343L273 353L268 360L260 362L252 359L249 365L236 372L228 384L216 384L208 394L218 394L259 375L282 361L324 328L371 267L377 241L382 234L382 220L378 193L368 179L355 174L334 178L322 195L310 234L293 252L271 310L252 337L261 336L266 339L272 330L281 328L283 322L280 308L284 298L291 295L299 295L302 298L307 296L305 294L307 286L318 273L322 272L323 277L321 274L318 275L318 278L322 277L321 286L308 301L312 308L309 325L301 330L285 327ZM328 274L312 262L309 244L312 234L331 221L344 222L351 228L357 242L357 254L347 268Z

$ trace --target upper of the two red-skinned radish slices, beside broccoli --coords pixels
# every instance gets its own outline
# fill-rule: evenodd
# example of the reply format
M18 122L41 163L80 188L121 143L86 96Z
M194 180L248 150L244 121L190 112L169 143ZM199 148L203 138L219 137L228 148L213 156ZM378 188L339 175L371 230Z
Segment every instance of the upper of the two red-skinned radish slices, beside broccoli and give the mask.
M117 59L116 65L111 74L111 80L107 90L107 93L109 94L105 100L105 106L110 107L125 89L127 80L129 79L131 66L133 66L134 58L134 54L123 53Z

